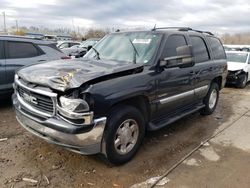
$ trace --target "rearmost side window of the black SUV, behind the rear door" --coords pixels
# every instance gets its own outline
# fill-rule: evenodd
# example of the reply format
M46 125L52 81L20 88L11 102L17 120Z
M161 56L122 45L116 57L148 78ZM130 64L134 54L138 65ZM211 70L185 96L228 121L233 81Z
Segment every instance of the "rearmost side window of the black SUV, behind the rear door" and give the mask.
M226 54L220 40L214 37L208 37L208 40L210 41L214 59L226 59Z

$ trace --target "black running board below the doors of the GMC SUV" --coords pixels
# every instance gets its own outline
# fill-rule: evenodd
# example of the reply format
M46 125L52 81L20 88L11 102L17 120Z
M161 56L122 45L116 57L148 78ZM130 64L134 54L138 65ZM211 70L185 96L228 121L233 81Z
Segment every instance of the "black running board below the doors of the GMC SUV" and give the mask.
M174 114L171 114L167 117L164 117L160 120L156 120L156 121L152 121L152 122L149 122L148 124L148 130L149 131L156 131L158 129L161 129L185 116L188 116L194 112L197 112L199 111L200 109L204 108L205 105L204 104L197 104L195 106L191 106L189 108L185 108L185 109L182 109Z

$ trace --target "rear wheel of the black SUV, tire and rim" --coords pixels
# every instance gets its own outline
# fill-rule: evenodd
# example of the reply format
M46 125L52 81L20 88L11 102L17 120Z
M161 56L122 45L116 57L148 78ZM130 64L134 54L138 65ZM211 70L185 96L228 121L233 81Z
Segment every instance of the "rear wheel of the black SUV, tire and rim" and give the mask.
M206 97L203 100L205 107L201 110L202 115L210 115L214 112L219 100L219 86L212 82Z

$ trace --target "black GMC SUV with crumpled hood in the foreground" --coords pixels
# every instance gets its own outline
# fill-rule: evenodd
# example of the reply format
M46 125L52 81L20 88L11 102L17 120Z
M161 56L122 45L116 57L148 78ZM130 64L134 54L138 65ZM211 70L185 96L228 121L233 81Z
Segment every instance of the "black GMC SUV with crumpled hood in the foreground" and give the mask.
M21 69L13 104L20 124L81 154L129 161L145 131L211 114L227 62L218 38L190 28L107 35L84 59Z

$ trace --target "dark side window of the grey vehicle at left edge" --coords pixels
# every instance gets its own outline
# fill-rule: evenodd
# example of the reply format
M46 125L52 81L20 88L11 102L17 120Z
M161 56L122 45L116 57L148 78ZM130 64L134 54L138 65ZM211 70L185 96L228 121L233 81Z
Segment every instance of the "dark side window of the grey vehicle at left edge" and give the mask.
M28 42L8 42L9 59L30 58L40 55L38 49Z

